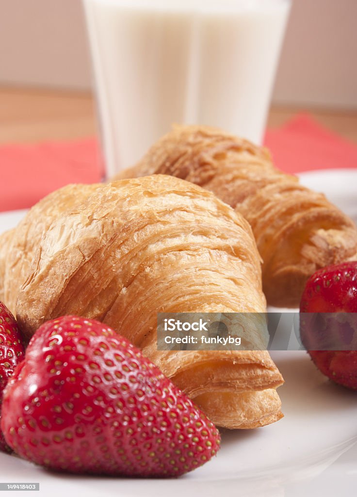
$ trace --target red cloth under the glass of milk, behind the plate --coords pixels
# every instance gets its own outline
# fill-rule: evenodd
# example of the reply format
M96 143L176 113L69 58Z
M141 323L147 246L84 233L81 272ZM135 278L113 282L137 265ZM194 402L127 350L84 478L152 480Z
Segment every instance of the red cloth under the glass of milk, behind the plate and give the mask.
M357 167L357 146L322 128L306 114L283 128L268 130L265 145L275 164L290 173ZM72 142L0 147L0 211L30 207L68 183L93 183L103 177L95 138Z

